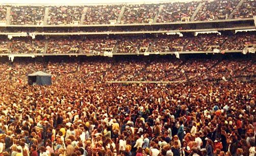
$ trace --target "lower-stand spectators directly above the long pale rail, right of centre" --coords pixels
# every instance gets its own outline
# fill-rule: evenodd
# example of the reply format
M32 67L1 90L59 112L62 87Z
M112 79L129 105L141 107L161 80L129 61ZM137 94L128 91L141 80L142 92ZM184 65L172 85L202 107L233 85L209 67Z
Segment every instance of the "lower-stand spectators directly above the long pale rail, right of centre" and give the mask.
M129 65L133 66L129 66ZM221 80L241 76L253 76L256 65L252 60L241 60L238 63L232 60L192 59L186 61L150 61L149 63L131 62L113 73L116 77L106 75L106 81L182 81L182 80ZM251 72L251 73L250 73Z

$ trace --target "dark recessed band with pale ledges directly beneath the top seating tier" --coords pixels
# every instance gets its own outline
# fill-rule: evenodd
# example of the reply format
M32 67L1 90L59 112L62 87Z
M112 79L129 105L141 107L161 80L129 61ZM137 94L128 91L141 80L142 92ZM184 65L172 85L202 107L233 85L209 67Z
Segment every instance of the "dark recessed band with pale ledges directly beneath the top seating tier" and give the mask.
M0 25L0 35L36 32L36 35L108 35L145 33L190 33L255 28L254 18L169 23L93 24L93 25ZM71 34L72 33L72 34Z

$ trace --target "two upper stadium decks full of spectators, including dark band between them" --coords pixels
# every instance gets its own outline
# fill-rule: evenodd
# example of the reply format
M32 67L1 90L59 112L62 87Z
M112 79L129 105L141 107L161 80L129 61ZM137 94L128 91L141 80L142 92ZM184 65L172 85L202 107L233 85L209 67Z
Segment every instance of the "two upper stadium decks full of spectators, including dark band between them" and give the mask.
M242 52L256 47L255 33L235 35L234 30L255 28L255 8L255 1L250 0L1 5L0 54ZM202 31L219 31L222 35L196 37ZM167 36L177 32L184 37Z

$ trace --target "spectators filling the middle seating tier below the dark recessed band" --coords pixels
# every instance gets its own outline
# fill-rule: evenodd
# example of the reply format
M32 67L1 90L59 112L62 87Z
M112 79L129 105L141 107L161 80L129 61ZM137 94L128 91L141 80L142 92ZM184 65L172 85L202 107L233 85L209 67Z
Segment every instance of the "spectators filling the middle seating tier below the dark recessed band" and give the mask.
M0 39L1 53L104 53L109 52L166 52L166 51L213 51L218 49L243 50L256 45L255 33L236 35L198 34L194 36L118 36L118 37L53 37L48 39L15 38L8 43ZM200 44L198 44L200 43ZM9 46L11 45L11 46ZM10 50L11 48L11 50Z

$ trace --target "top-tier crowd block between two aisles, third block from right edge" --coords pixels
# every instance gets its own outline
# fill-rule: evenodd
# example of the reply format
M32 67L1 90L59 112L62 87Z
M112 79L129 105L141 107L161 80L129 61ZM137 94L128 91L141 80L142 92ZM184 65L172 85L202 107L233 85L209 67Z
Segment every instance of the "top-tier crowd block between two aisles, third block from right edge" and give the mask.
M193 15L198 4L198 2L165 4L162 11L158 14L157 22L190 21L190 17Z

